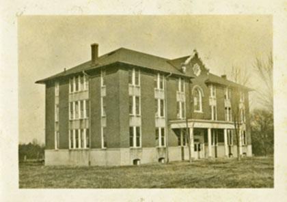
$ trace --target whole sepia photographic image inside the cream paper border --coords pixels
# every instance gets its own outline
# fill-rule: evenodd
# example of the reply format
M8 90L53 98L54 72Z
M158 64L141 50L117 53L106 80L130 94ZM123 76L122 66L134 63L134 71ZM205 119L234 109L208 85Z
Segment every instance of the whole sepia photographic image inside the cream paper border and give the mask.
M18 16L18 188L274 188L273 16Z

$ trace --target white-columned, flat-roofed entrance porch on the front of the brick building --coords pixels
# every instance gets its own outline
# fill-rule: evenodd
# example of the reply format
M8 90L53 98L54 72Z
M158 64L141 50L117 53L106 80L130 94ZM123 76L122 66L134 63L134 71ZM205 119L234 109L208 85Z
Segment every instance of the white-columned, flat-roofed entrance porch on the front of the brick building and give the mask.
M178 145L182 147L182 160L189 155L187 149L184 149L187 147L187 128L193 159L228 158L236 152L233 146L232 122L189 119L188 123L185 120L170 121L170 126L178 136Z

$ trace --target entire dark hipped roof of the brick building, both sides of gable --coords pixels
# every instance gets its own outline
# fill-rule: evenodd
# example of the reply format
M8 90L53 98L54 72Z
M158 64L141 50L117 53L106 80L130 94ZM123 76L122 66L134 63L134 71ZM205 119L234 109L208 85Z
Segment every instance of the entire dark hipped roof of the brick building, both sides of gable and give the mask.
M195 55L197 57L197 52L196 51L194 52L196 53ZM193 58L195 57L195 55L193 55ZM46 81L50 81L54 78L59 78L61 76L68 76L71 74L77 74L79 72L82 72L83 70L87 71L87 70L93 70L95 68L100 68L102 66L109 66L113 63L124 63L132 66L139 66L142 68L148 68L151 70L167 72L193 78L195 76L193 74L193 71L187 72L186 74L183 74L181 72L182 63L186 61L189 57L191 56L188 55L176 59L166 59L163 57L158 57L147 53L141 53L139 51L133 51L128 48L118 48L115 51L111 51L110 53L98 57L96 63L93 63L92 61L87 61L85 63L81 63L78 66L75 66L74 68L64 70L59 74L55 74L53 76L49 76L48 78L44 78L40 81L36 81L36 83L46 83ZM202 65L204 66L203 63ZM239 85L238 83L234 83L232 81L228 81L226 78L221 78L220 76L216 76L215 74L211 74L209 72L207 74L207 79L205 83L217 83L219 85L226 85L230 87L241 87L243 89L252 90L248 87Z

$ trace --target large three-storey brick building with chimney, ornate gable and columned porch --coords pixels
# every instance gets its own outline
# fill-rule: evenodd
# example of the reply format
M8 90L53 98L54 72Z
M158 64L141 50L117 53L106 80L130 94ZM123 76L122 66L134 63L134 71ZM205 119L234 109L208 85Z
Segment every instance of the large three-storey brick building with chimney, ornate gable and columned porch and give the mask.
M119 48L46 85L45 164L128 165L251 156L247 87L211 74L196 51L165 59ZM188 130L187 130L188 128ZM189 135L189 136L188 136Z

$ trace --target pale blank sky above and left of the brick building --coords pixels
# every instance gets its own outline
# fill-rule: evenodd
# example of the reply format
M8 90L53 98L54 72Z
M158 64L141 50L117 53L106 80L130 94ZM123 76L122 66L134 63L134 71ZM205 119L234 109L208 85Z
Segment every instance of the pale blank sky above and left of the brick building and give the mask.
M269 56L272 30L271 16L256 15L21 16L19 141L44 143L45 88L35 81L90 60L94 42L99 55L125 47L174 59L197 49L210 72L229 77L232 66L252 72L256 57ZM250 86L260 86L256 81L252 79Z

